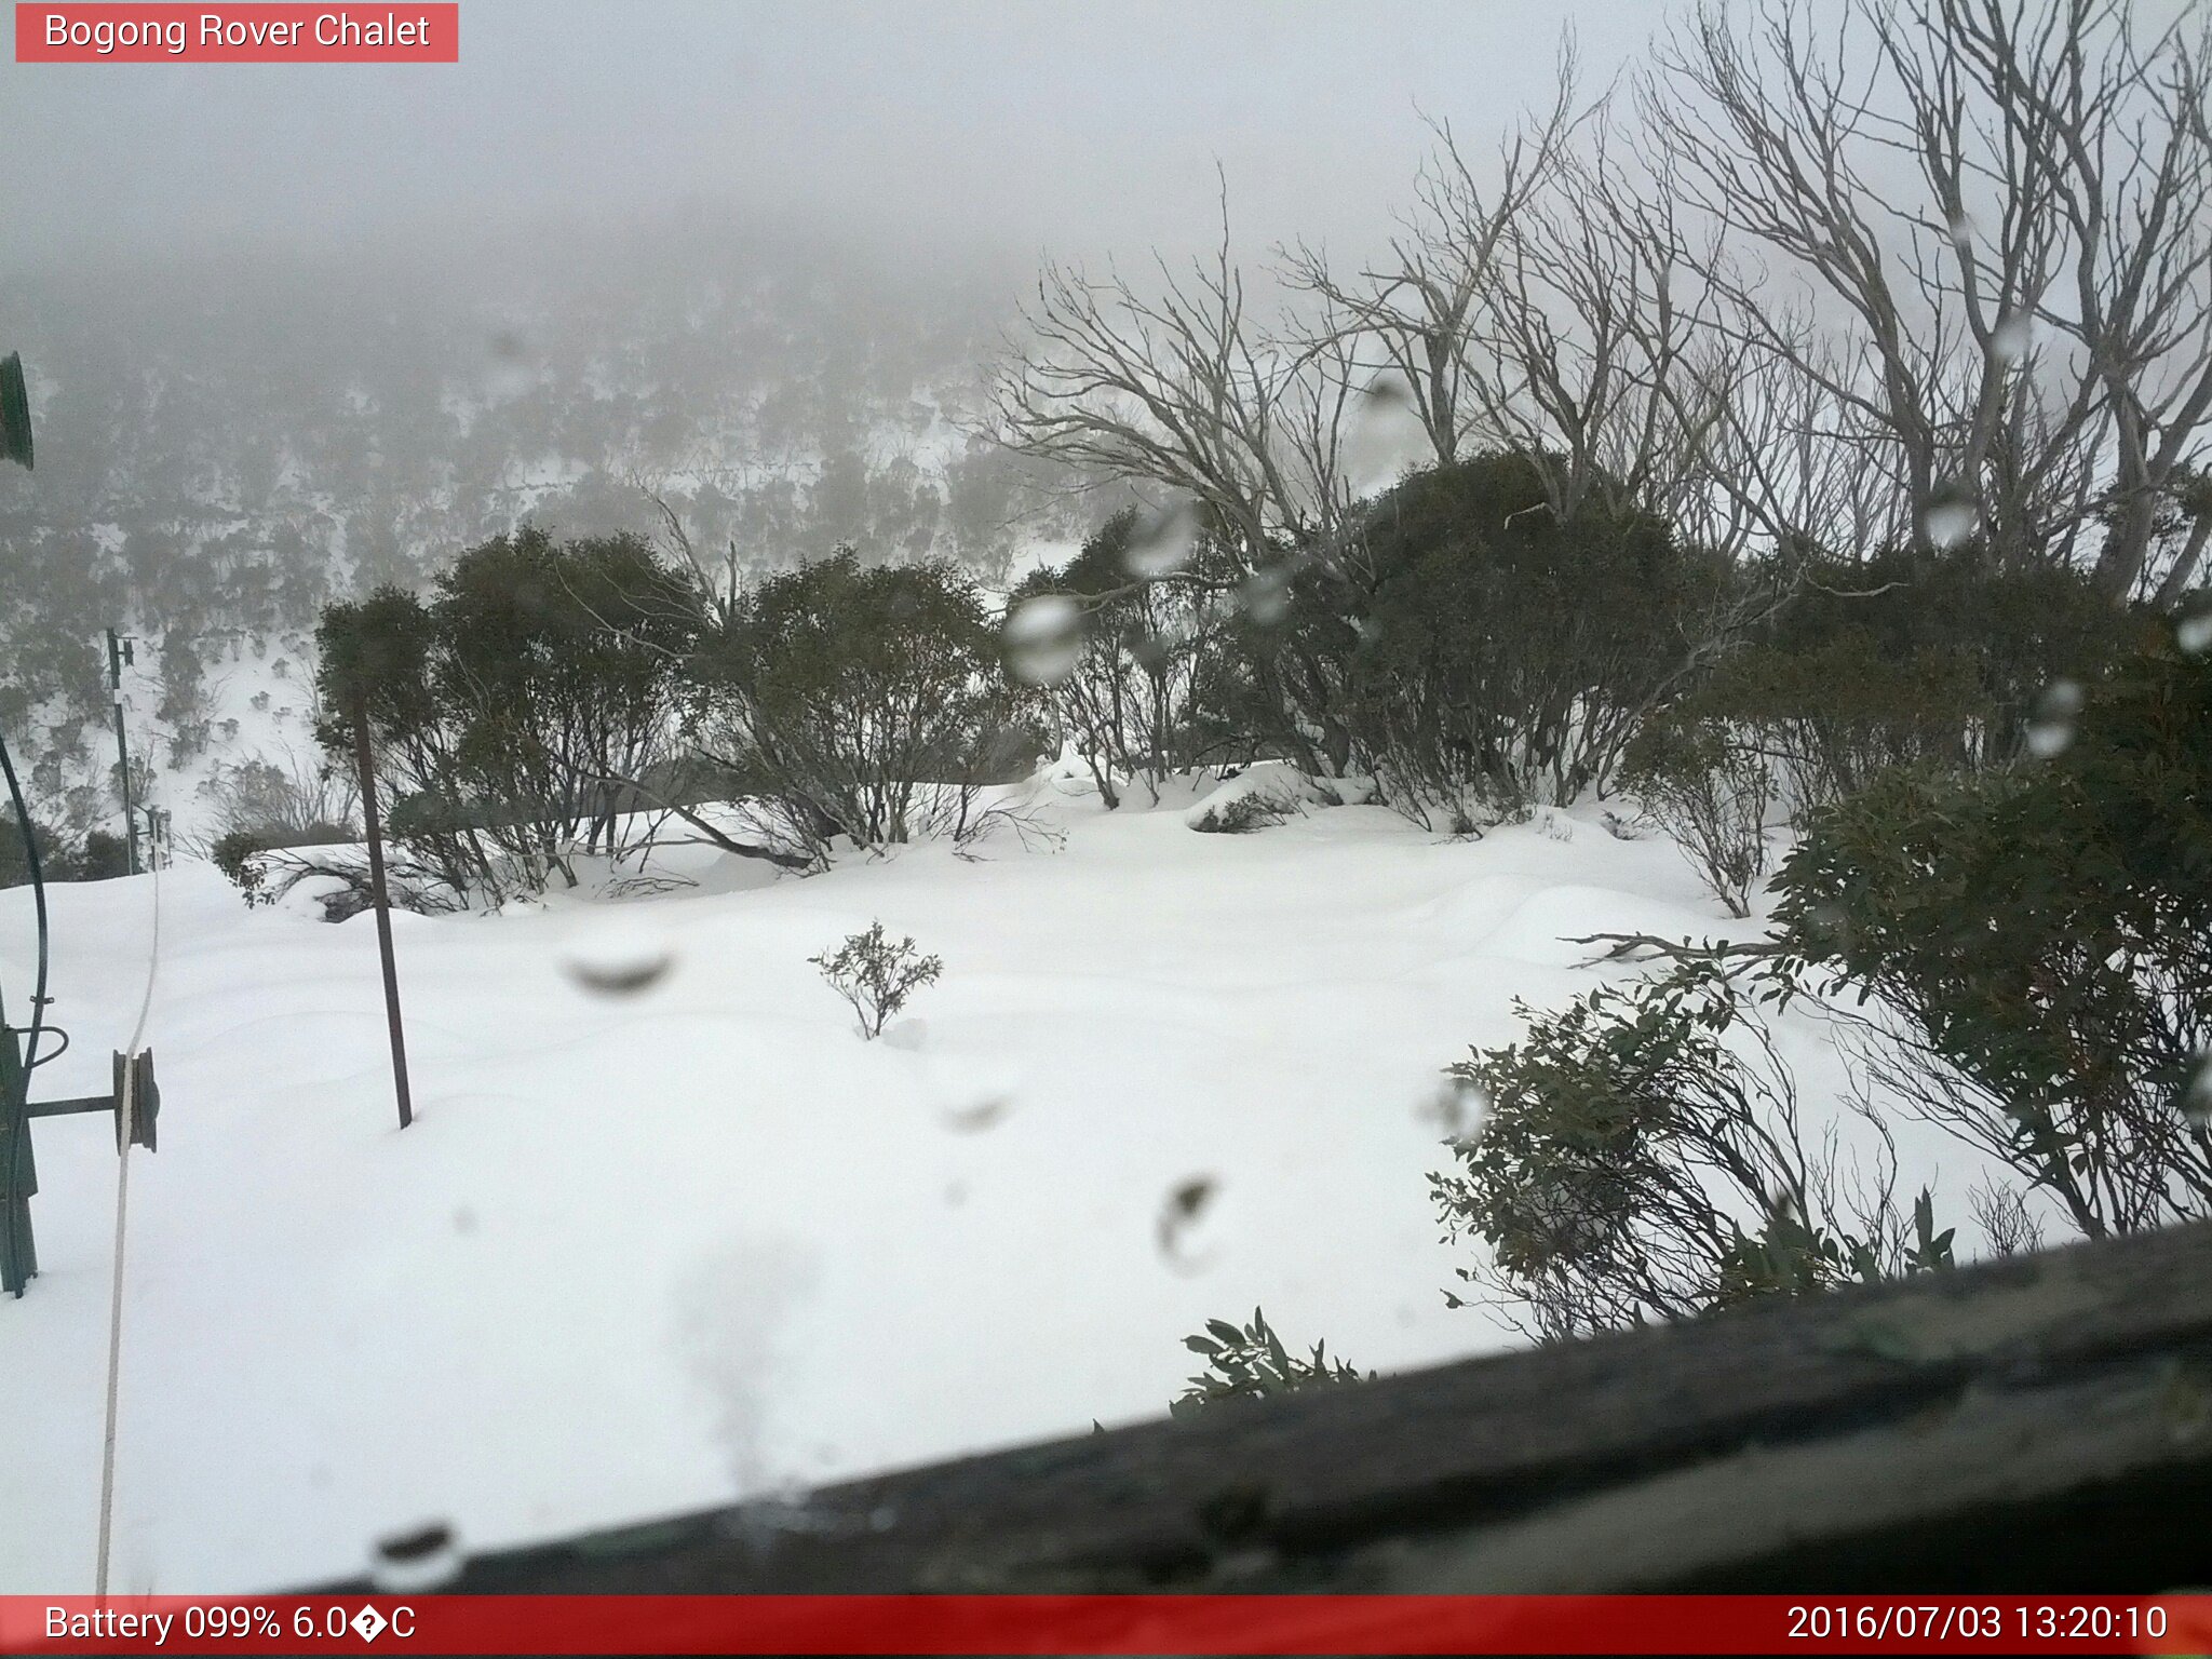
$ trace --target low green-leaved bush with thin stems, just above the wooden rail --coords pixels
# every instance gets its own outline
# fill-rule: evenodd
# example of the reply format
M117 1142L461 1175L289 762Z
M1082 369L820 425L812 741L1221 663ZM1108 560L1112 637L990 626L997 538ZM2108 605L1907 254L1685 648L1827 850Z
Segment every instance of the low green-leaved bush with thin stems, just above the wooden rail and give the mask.
M1451 1075L1486 1102L1429 1177L1447 1232L1486 1245L1460 1276L1542 1336L1949 1265L1933 1199L1911 1223L1893 1203L1887 1135L1871 1170L1805 1135L1772 1031L1714 962L1590 991Z

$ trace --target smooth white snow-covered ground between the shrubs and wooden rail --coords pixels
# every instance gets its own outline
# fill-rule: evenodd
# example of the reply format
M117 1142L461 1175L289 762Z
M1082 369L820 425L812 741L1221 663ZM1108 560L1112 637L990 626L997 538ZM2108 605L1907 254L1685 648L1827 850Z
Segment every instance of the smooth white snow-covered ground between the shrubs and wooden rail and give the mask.
M1440 1294L1440 1068L1511 1037L1513 998L1593 982L1564 936L1730 925L1595 810L1455 843L1186 807L1051 794L1060 847L805 880L690 854L675 894L398 916L405 1133L374 922L166 872L115 1588L272 1588L434 1520L515 1544L1157 1416L1181 1338L1254 1303L1385 1371L1509 1340ZM53 916L49 1097L106 1086L155 878ZM807 958L876 918L945 978L869 1044ZM633 995L564 967L661 951ZM0 894L15 1018L29 953ZM95 1551L104 1119L40 1121L38 1168L44 1272L0 1303L0 1590L60 1593ZM1166 1228L1192 1181L1212 1199Z

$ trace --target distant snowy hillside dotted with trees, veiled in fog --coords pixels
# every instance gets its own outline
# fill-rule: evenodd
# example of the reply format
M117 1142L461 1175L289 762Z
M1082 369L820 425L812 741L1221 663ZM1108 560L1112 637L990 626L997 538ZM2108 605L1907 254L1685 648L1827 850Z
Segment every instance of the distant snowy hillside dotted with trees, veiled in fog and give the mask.
M97 812L108 626L146 641L155 768L192 772L241 748L241 719L248 745L303 737L252 732L265 710L219 706L210 672L261 697L250 664L301 668L325 602L416 588L522 522L653 535L657 495L757 573L852 542L989 580L1104 511L975 431L1018 321L1004 261L675 210L617 226L549 221L420 263L294 252L11 283L42 465L35 489L0 480L0 719L40 723L55 810Z

